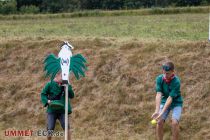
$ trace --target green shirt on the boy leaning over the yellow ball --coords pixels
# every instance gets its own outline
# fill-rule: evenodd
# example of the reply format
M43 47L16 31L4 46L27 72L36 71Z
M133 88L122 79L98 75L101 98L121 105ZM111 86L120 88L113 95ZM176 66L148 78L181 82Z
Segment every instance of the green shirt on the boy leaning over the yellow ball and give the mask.
M162 93L161 104L165 104L169 96L172 97L171 107L182 106L183 99L180 91L180 79L175 76L172 81L167 84L163 80L163 74L156 78L156 92Z

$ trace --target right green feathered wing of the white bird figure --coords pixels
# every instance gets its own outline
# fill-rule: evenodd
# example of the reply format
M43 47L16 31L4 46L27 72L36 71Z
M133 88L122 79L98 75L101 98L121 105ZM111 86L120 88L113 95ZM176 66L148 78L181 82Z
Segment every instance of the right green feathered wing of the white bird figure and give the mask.
M69 71L74 73L76 79L79 79L80 76L85 77L85 71L87 71L86 63L86 59L81 54L76 54L71 57Z

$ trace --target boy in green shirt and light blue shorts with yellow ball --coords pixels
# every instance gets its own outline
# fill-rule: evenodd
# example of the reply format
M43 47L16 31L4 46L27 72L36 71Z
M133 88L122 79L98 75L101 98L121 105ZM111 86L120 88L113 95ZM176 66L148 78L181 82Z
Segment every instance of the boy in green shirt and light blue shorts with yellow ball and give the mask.
M156 109L152 118L157 120L157 139L163 139L163 125L172 111L172 139L178 140L179 121L182 113L183 99L180 91L179 77L174 73L174 64L166 62L162 66L163 74L156 78Z

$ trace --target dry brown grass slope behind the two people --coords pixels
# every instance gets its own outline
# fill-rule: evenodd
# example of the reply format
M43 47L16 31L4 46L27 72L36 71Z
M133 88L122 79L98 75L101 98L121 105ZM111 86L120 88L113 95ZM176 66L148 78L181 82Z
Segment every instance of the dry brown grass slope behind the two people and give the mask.
M69 39L88 59L86 78L72 78L73 139L154 139L154 79L170 59L182 81L181 139L209 139L210 45L163 40ZM0 129L45 129L40 91L43 59L61 40L13 40L0 44ZM60 127L58 128L60 130ZM170 123L165 127L170 138ZM37 139L36 137L31 139ZM39 139L39 138L38 138ZM40 138L41 139L41 138Z

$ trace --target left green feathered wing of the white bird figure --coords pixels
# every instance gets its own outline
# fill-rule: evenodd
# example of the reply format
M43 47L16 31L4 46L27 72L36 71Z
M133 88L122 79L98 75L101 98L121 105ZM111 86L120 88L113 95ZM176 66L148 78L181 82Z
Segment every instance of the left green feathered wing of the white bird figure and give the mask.
M60 70L60 58L57 58L54 54L48 55L44 60L45 76L50 77L52 81Z

